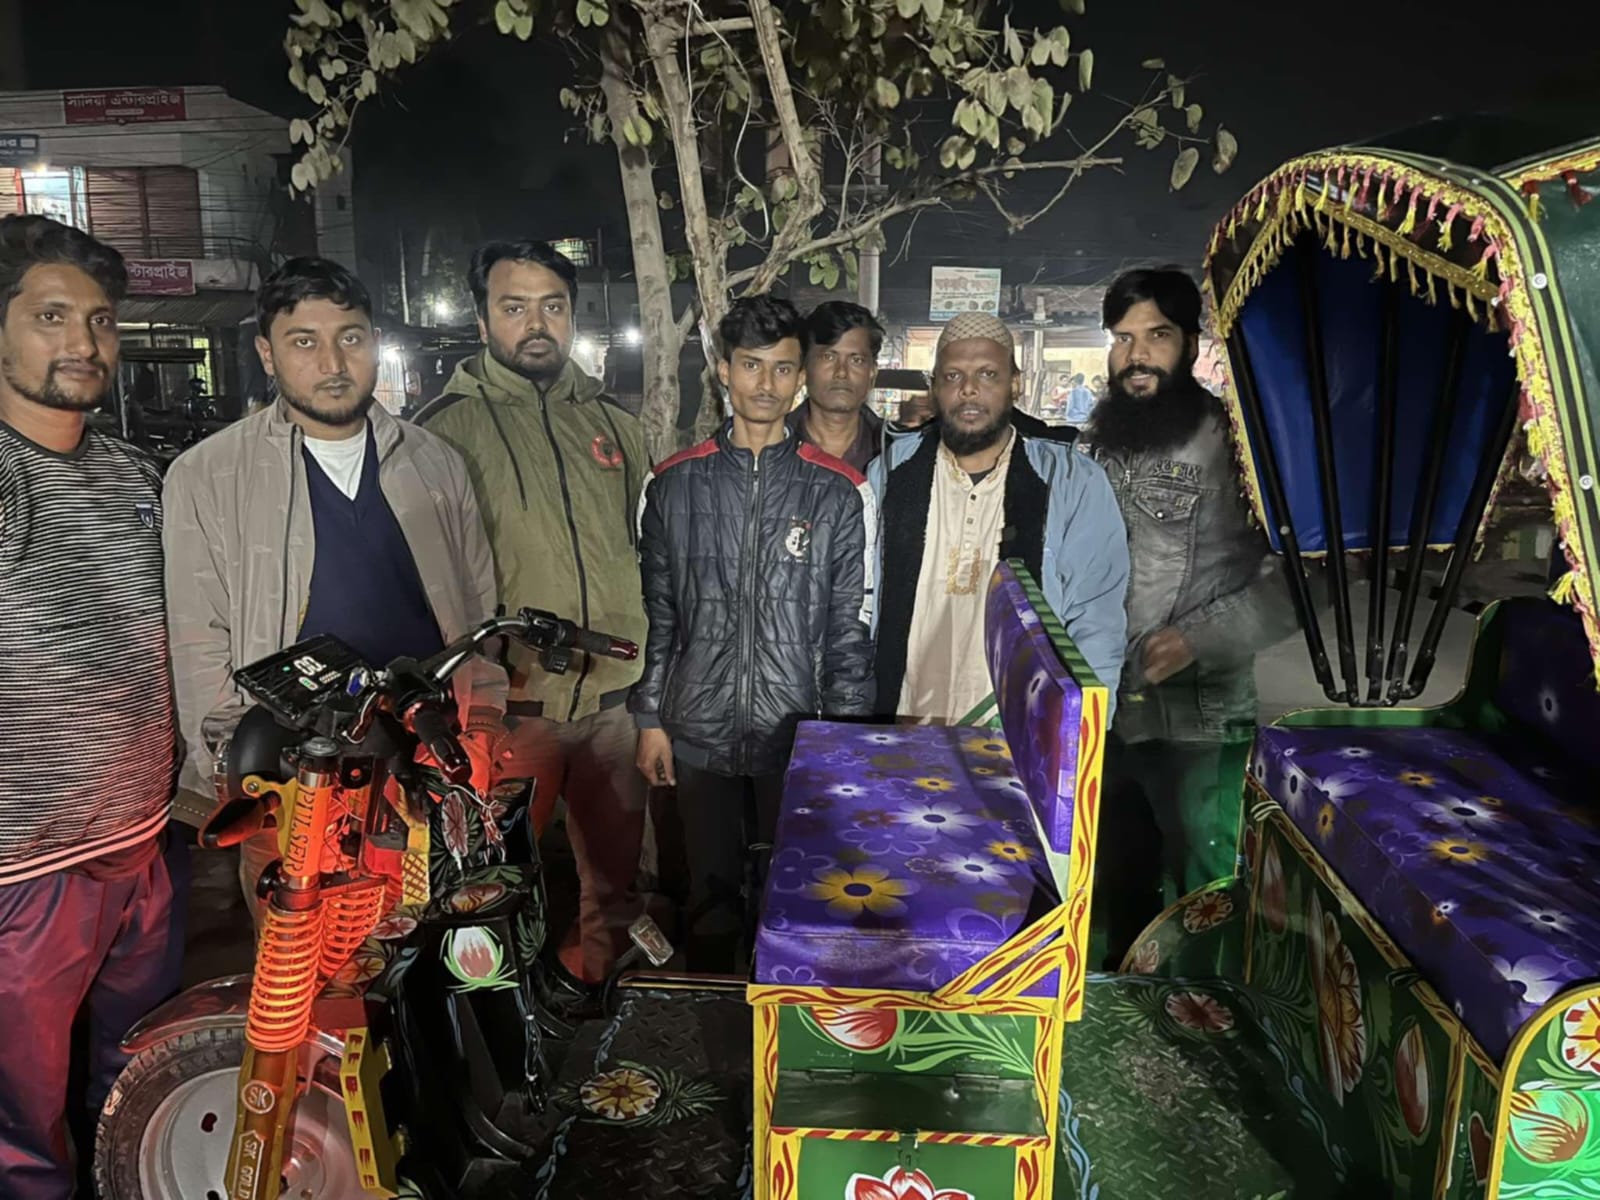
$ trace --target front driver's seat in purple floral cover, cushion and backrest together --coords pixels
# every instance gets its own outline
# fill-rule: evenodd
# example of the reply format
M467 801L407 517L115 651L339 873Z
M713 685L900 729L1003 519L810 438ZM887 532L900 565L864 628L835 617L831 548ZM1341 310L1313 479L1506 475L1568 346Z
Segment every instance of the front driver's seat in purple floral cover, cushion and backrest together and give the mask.
M931 992L1061 904L1082 690L1008 565L986 643L1003 734L800 725L757 982Z

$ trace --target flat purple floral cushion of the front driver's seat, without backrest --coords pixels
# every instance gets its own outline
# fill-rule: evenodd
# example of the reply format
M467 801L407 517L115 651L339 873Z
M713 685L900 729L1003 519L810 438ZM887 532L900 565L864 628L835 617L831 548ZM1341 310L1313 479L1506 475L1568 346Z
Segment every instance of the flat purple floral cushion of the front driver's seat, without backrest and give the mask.
M803 722L755 981L931 992L1059 901L998 734Z

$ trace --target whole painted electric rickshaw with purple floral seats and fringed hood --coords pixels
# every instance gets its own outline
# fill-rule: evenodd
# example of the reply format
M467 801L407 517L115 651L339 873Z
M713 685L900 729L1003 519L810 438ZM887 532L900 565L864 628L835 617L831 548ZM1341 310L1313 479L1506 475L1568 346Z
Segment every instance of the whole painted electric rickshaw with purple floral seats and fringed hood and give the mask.
M130 1045L149 1070L174 1030L235 1030L205 1075L226 1086L178 1117L237 1179L270 1122L315 1157L275 1107L310 1098L306 1130L358 1170L302 1173L306 1200L1600 1197L1595 189L1600 138L1435 123L1288 162L1216 227L1240 475L1328 702L1258 730L1234 874L1163 912L1122 971L1086 963L1110 693L1038 563L1006 562L976 723L800 725L749 979L634 973L603 1018L563 1026L525 986L544 933L526 870L435 877L432 909L384 917L427 896L430 837L435 859L494 840L493 808L470 848L440 826L461 800L434 779L432 813L371 810L387 882L362 914L349 878L322 880L346 899L341 942L302 952L315 1003L235 982ZM1552 595L1483 610L1461 693L1419 707L1525 461L1560 542ZM326 774L328 803L366 782ZM246 1029L290 998L298 1069L286 1037L251 1050ZM507 1066L512 1043L533 1050ZM117 1106L126 1090L102 1134ZM102 1179L152 1138L165 1163L198 1139L149 1128L102 1139ZM462 1142L477 1162L438 1162ZM149 1194L149 1171L123 1176L117 1195Z

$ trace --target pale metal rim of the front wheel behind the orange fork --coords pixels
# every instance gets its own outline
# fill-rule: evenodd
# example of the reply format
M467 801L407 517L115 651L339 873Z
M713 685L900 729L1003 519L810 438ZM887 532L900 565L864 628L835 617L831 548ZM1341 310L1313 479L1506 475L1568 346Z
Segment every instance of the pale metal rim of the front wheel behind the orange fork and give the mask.
M144 1200L227 1200L238 1069L211 1070L178 1085L150 1115L139 1142ZM285 1200L358 1200L355 1150L344 1106L320 1086L294 1106L280 1170Z

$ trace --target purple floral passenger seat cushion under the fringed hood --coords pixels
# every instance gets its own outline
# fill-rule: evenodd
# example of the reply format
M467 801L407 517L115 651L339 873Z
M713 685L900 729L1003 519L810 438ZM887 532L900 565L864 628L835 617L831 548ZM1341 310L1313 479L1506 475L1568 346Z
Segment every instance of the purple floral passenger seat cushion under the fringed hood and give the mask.
M1587 768L1459 730L1264 728L1250 770L1496 1059L1600 978Z

